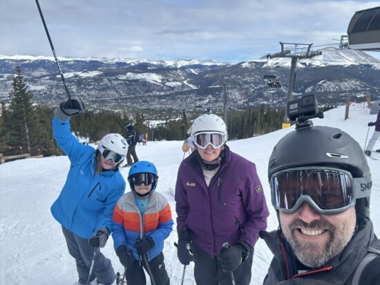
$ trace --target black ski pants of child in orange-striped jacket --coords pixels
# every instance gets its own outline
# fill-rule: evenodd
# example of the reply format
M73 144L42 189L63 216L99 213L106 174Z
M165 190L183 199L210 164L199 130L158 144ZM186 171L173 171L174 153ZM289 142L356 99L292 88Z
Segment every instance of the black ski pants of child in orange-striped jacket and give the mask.
M144 266L146 272L149 273L145 264L145 259L142 260L141 264L142 266ZM159 255L151 259L151 261L149 261L148 264L149 268L151 268L151 273L153 275L155 285L170 284L169 276L167 270L165 269L163 253L160 253ZM140 266L140 261L136 259L135 262L133 262L132 266L126 268L127 284L146 285L145 273L142 266ZM151 284L153 284L153 282L151 282Z

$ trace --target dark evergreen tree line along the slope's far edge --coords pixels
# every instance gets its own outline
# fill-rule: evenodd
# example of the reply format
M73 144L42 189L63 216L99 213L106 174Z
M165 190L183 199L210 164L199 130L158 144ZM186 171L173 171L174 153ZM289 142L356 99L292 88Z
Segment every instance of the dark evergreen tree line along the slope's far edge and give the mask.
M1 104L0 153L3 155L63 155L53 137L51 121L53 107L35 106L21 68L16 67L15 77L8 92L9 104ZM60 102L57 102L57 105ZM325 109L332 108L327 107ZM219 114L216 114L219 115ZM255 135L279 130L282 127L284 110L265 105L247 108L245 111L229 111L227 129L229 139L245 139ZM192 118L194 119L194 118ZM109 110L86 110L70 118L71 131L87 142L93 143L110 132L126 135L124 124L131 121L144 139L184 140L191 126L191 119L182 111L179 119L167 119L161 124L146 123L142 112L132 117L126 112Z

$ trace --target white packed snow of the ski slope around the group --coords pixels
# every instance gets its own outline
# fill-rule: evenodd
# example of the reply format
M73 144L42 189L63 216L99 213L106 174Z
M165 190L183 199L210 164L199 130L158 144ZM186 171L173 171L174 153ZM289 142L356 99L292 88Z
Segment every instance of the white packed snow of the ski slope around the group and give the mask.
M350 116L344 120L345 108L339 107L325 112L325 119L313 119L314 125L334 126L348 132L364 147L374 128L368 128L369 121L376 115L370 115L370 109L364 104L352 104ZM269 155L276 142L285 134L294 130L294 126L250 139L228 141L232 151L253 161L263 183L267 204L270 210L268 230L278 227L276 213L270 203L267 165ZM167 197L175 221L175 202L173 189L178 166L184 157L182 141L149 141L146 146L137 146L140 160L152 161L158 168L159 181L157 191ZM374 146L380 148L380 143ZM312 151L312 150L310 150ZM187 154L186 154L187 155ZM375 233L380 235L380 153L374 153L379 160L368 158L372 169L371 212ZM57 199L68 173L67 157L45 157L41 159L21 159L0 165L0 284L17 285L67 285L77 281L75 260L66 248L61 226L50 215L50 206ZM122 168L126 179L129 168ZM129 186L126 188L129 191ZM164 256L171 284L180 284L184 266L177 259L173 243L177 241L175 225L173 232L165 242ZM113 240L108 239L102 249L106 257L111 258L115 271L122 272ZM262 284L272 253L263 240L255 246L254 265L252 266L251 285ZM184 284L196 284L193 278L193 263L187 266Z

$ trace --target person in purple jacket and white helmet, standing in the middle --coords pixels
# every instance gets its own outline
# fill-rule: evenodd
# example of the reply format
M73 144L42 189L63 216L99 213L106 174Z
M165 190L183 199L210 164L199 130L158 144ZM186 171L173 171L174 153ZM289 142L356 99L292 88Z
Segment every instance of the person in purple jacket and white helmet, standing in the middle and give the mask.
M269 215L256 166L225 145L225 122L193 121L196 151L184 159L175 186L178 259L193 261L198 285L247 285L254 245ZM232 274L231 274L232 273Z

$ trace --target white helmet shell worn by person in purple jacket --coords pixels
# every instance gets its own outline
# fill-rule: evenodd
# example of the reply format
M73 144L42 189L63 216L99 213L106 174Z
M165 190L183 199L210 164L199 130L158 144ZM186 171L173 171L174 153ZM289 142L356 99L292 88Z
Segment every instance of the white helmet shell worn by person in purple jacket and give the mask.
M220 132L227 141L227 126L223 119L215 114L203 114L193 121L191 125L191 137L198 132Z

